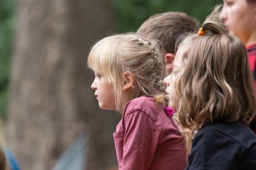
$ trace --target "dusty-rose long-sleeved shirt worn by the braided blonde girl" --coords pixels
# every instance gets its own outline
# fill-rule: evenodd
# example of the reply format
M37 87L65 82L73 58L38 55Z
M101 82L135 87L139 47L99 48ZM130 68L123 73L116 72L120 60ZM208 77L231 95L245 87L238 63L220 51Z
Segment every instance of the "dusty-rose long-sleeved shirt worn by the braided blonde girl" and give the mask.
M126 105L113 133L119 170L184 170L184 136L151 97Z

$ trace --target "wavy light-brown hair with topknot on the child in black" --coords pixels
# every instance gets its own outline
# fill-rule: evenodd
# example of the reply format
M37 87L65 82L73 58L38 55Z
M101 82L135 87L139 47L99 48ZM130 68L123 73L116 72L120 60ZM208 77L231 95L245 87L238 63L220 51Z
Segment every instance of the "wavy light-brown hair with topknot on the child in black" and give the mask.
M218 19L220 8L216 6L202 24L205 35L191 34L179 45L189 50L183 53L184 71L176 82L178 119L180 129L190 136L204 123L250 122L256 113L247 50Z

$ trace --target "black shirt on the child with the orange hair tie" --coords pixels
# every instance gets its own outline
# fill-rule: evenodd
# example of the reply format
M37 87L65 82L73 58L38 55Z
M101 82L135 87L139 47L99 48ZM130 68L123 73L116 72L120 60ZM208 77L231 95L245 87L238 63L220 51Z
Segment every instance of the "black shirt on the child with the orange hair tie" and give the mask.
M256 135L241 120L205 124L185 170L256 170Z

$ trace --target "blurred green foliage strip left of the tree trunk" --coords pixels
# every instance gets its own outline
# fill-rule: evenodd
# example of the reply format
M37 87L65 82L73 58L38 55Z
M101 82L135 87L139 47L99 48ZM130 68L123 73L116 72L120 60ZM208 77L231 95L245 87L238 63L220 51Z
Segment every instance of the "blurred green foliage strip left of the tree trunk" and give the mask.
M0 117L6 118L14 33L14 0L0 0Z

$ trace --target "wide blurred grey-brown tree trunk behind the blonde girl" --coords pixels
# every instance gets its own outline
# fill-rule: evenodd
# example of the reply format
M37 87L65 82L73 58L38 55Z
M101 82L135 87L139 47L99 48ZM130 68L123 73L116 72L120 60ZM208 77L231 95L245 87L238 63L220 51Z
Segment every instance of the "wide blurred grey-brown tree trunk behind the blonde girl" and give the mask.
M17 0L7 145L23 170L50 170L83 131L87 170L116 164L116 114L99 110L86 70L92 44L113 31L111 0Z

